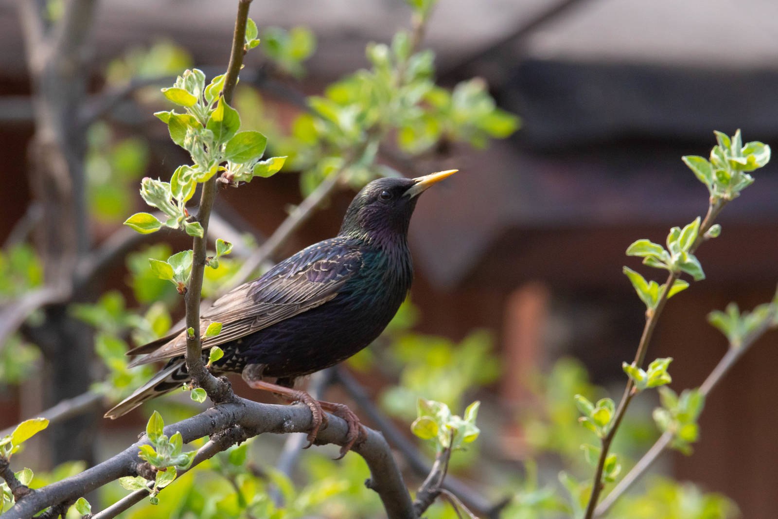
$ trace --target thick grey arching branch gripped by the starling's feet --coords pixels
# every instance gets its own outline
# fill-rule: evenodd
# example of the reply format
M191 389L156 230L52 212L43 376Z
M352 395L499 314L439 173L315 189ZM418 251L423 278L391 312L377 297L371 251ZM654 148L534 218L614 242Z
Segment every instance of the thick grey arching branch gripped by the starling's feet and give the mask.
M310 429L310 421L310 409L305 405L261 404L235 398L233 402L212 407L190 419L167 426L165 433L171 436L179 431L184 442L190 443L206 435L230 430L234 426L242 427L251 436L304 432ZM328 421L329 426L319 433L317 444L345 444L348 425L337 416L328 415ZM365 458L370 468L370 488L379 494L389 517L414 517L411 498L389 445L377 431L366 429L366 432L366 440L352 450ZM46 507L78 499L124 475L135 475L139 461L138 446L145 443L145 439L139 441L84 472L36 489L17 501L2 516L3 519L31 517Z

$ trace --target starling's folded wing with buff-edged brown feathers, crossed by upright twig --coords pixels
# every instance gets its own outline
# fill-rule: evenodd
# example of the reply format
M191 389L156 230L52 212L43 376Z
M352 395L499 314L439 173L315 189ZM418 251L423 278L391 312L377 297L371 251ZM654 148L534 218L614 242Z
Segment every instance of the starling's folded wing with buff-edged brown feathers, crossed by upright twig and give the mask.
M289 317L318 307L338 295L342 286L362 266L362 253L356 247L338 242L312 245L286 259L261 278L219 297L201 317L201 335L208 325L222 323L214 337L203 337L203 348L210 348L267 328ZM131 349L128 355L149 353L130 366L138 366L183 355L187 349L184 331Z

